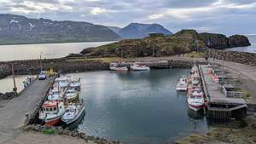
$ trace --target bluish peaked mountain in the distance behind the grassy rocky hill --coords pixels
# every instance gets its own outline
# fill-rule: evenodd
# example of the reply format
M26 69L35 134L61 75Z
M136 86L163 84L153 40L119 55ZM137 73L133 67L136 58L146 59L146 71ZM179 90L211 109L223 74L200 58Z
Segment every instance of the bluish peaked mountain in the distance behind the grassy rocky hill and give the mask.
M131 23L128 26L125 26L119 32L120 37L123 38L143 38L148 37L149 33L152 32L160 32L165 35L172 35L172 32L167 30L164 26L160 26L159 24L139 24L139 23Z

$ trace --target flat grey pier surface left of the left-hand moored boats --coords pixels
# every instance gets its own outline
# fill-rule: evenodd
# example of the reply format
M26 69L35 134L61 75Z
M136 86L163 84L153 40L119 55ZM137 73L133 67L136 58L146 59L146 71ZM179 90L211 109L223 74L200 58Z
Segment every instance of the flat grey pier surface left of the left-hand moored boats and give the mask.
M48 80L35 80L14 99L0 107L0 143L20 135L20 126L26 121L25 113L32 113L48 88Z

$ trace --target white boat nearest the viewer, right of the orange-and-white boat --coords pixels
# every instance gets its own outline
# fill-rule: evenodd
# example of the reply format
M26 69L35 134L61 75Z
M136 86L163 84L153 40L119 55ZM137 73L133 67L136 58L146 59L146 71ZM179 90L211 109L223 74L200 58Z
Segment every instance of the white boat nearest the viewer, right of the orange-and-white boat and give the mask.
M61 121L65 125L74 124L81 117L83 117L84 113L85 113L84 102L69 104L67 106L65 113L61 117Z

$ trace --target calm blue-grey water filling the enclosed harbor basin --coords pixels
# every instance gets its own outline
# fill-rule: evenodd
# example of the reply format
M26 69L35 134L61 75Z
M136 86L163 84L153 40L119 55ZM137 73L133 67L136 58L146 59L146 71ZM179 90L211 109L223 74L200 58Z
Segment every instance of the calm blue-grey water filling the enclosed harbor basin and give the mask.
M86 113L79 130L87 135L161 144L207 131L206 119L189 118L187 96L176 91L177 79L189 75L189 69L72 75L81 78Z

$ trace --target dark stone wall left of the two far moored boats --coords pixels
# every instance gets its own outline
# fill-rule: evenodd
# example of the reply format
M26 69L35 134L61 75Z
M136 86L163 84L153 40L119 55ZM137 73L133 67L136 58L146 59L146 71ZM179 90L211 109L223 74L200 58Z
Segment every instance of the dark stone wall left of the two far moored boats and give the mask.
M12 65L14 65L15 74L38 74L41 69L40 60L1 61L0 78L11 74ZM84 72L108 69L108 63L104 63L101 60L69 60L67 58L45 59L42 60L42 66L43 70L53 68L55 72Z

